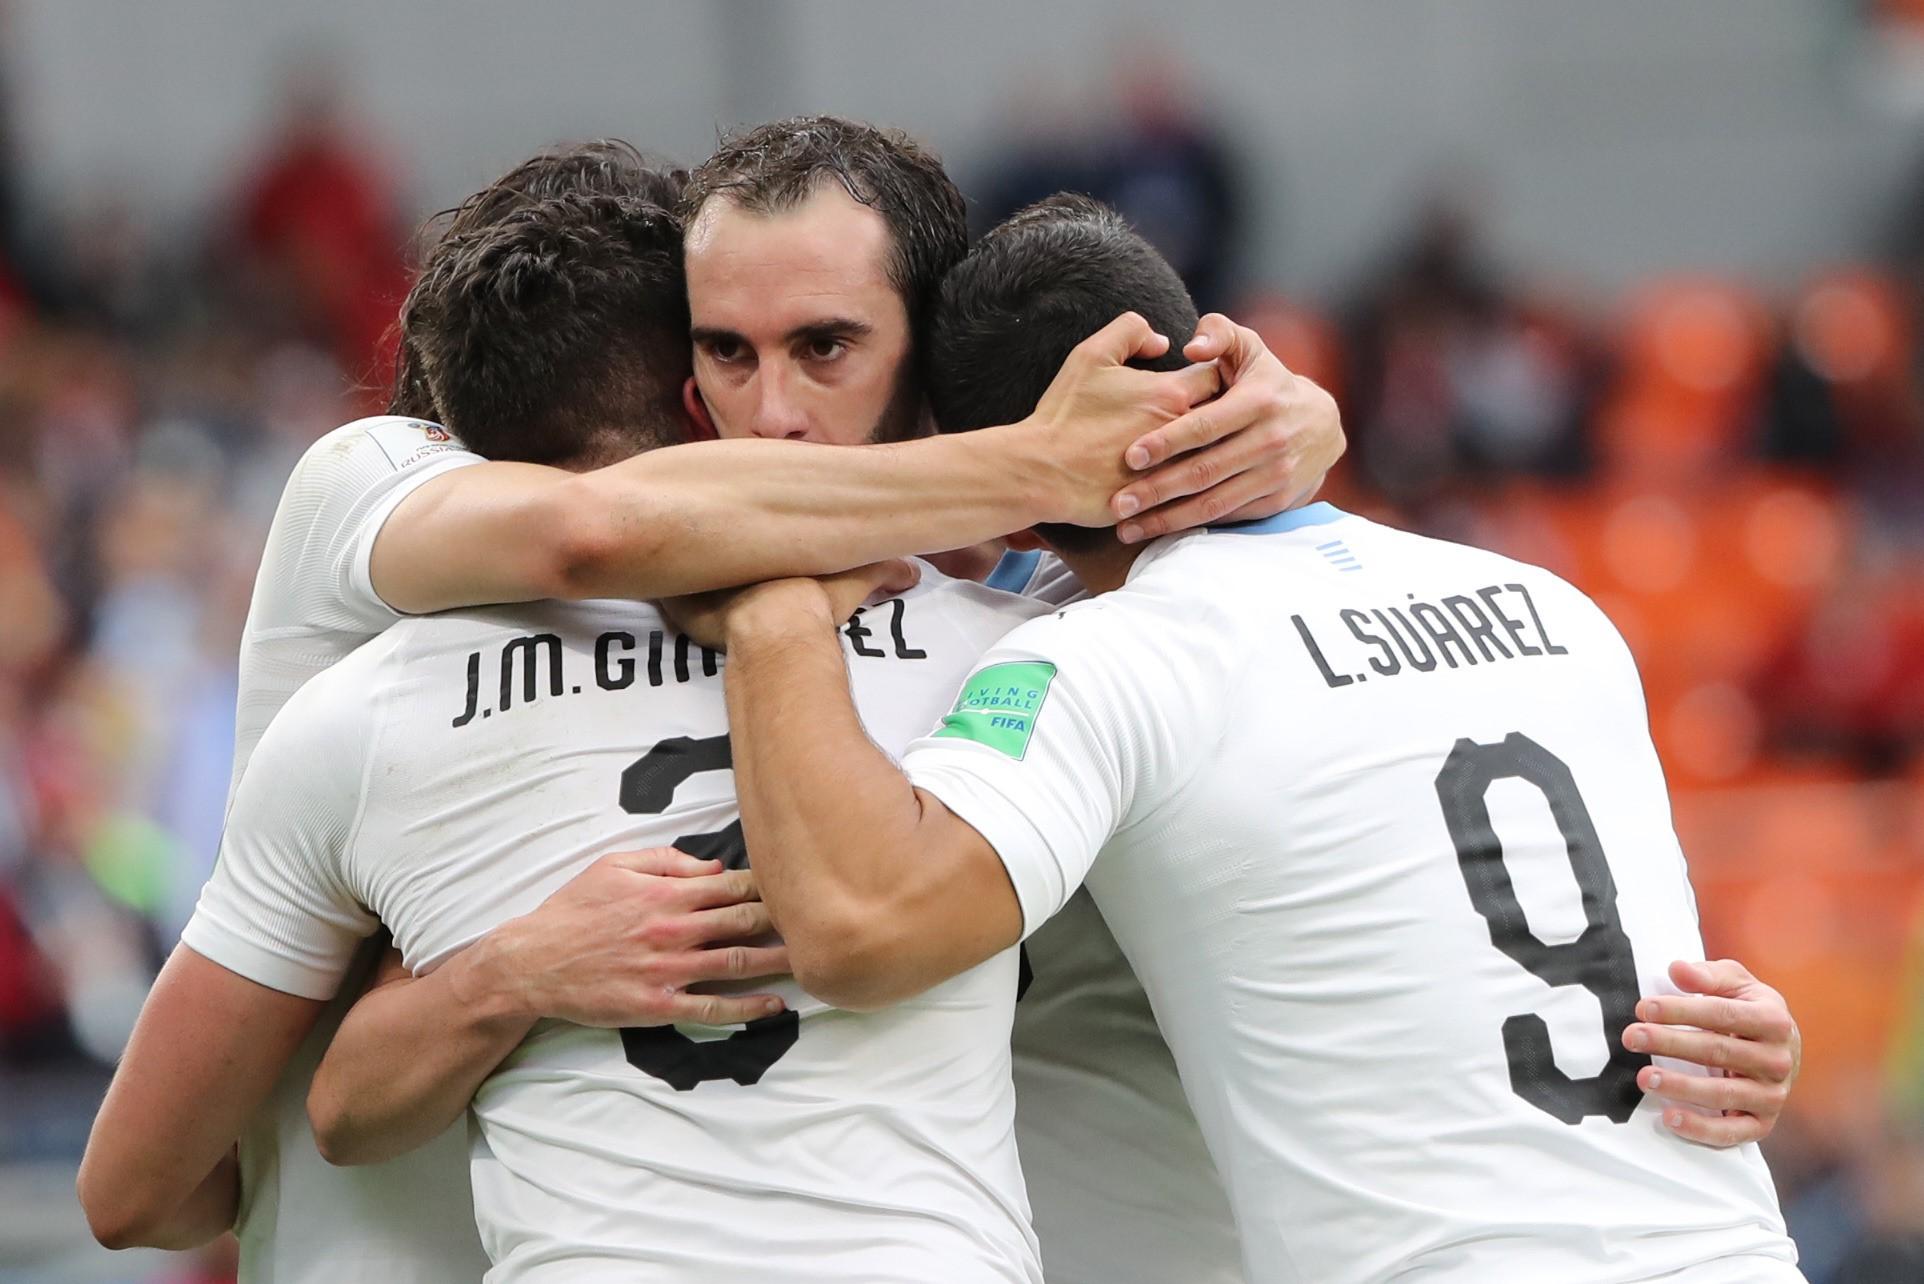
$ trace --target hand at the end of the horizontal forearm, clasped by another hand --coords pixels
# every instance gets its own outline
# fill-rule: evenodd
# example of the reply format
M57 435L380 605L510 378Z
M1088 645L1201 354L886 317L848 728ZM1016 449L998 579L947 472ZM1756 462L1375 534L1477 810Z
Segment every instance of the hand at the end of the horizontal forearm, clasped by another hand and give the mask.
M1124 464L1124 450L1222 391L1214 364L1168 372L1127 364L1168 350L1166 335L1154 333L1139 314L1124 312L1062 362L1025 422L1035 429L1035 447L1020 464L1056 504L1047 520L1114 526L1110 499L1137 479Z

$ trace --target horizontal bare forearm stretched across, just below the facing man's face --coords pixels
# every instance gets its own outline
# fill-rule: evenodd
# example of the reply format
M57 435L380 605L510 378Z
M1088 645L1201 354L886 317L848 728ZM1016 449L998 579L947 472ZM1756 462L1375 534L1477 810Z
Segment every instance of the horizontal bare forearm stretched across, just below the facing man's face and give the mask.
M581 474L570 597L673 597L997 539L1070 489L1027 425L877 447L704 441Z

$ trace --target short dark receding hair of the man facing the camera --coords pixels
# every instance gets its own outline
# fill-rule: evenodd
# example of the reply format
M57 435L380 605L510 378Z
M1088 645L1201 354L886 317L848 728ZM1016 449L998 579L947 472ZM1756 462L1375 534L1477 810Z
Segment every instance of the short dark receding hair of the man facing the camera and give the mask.
M889 283L922 333L943 275L968 254L968 206L935 152L900 129L839 116L797 116L729 133L689 175L681 212L693 219L712 196L750 214L781 214L835 181L889 227Z

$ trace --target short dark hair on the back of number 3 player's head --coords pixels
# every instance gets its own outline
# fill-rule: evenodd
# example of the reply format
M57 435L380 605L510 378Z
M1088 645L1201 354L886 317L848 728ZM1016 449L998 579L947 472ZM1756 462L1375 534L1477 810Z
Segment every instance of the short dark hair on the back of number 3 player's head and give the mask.
M487 458L583 466L681 441L681 221L633 193L506 202L435 246L402 333L443 424Z

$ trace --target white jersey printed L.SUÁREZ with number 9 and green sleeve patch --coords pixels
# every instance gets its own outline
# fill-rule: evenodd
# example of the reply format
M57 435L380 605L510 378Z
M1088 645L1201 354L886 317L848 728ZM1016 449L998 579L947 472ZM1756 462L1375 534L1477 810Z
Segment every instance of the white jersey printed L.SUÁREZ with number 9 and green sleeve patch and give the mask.
M1328 504L1168 539L904 766L1029 930L1087 880L1251 1280L1801 1278L1757 1147L1672 1138L1622 1049L1701 939L1635 666L1555 576Z

